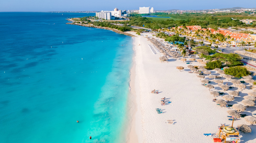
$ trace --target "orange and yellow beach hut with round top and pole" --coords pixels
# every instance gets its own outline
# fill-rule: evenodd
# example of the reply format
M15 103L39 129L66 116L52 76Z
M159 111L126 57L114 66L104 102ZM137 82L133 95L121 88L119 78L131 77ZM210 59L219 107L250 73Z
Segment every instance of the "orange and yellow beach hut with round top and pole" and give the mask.
M231 126L221 126L219 128L219 138L224 139L224 143L226 143L226 141L235 141L235 143L238 143L237 141L240 141L239 132L236 128L233 127L233 122Z

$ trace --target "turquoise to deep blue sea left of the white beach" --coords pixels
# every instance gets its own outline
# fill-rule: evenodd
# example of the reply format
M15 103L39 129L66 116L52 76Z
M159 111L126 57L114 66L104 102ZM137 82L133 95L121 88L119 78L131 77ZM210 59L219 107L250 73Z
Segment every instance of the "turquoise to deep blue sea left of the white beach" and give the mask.
M132 38L94 15L0 12L1 143L124 142Z

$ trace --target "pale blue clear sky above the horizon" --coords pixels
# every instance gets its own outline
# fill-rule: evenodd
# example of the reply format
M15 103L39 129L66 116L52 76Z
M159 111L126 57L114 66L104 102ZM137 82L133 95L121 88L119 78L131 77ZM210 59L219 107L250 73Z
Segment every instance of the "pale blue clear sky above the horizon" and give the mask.
M255 8L256 0L1 0L0 11L101 11L132 10L153 7L155 10L195 10L216 8Z

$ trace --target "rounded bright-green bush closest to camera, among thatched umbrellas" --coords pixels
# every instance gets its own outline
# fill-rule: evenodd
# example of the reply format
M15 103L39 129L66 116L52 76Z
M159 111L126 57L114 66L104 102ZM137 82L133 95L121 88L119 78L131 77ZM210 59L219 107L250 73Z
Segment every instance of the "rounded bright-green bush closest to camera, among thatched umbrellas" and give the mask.
M250 72L247 71L246 68L241 66L231 67L229 69L225 69L224 71L225 71L225 74L229 74L237 78L250 74Z

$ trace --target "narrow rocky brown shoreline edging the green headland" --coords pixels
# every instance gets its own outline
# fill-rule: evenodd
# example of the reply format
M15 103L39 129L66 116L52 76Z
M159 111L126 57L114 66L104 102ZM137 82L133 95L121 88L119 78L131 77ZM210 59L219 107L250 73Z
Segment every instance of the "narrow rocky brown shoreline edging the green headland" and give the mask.
M66 19L70 22L76 22L72 19ZM124 34L124 35L127 35L127 36L131 36L131 37L136 37L135 35L133 34L129 34L127 32L122 32L122 31L119 31L117 29L112 29L112 28L109 28L109 27L101 27L101 26L95 26L95 25L92 25L92 24L77 24L77 23L66 23L66 24L70 24L70 25L78 25L78 26L84 26L84 27L92 27L92 28L99 28L99 29L106 29L106 30L111 30L111 31L114 31L116 33L119 33L119 34Z

